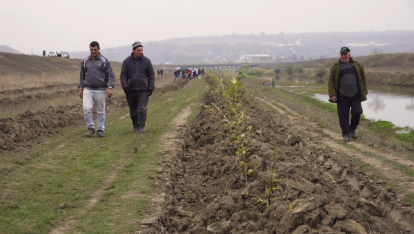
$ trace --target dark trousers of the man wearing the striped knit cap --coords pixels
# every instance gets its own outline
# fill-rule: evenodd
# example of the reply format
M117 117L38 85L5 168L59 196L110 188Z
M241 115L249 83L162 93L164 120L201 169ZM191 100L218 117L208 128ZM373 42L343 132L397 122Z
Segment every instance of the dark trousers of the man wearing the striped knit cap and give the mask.
M132 125L138 127L145 127L147 105L148 105L148 92L128 92L126 94L126 101L130 107L130 117Z

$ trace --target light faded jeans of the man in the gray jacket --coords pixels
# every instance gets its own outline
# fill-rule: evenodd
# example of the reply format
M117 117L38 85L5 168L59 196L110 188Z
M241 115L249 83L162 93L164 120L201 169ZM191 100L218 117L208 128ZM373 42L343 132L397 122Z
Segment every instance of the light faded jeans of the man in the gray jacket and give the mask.
M85 117L88 129L95 129L93 123L92 108L95 104L97 109L97 130L105 131L105 103L106 103L106 89L91 90L83 89L83 116Z

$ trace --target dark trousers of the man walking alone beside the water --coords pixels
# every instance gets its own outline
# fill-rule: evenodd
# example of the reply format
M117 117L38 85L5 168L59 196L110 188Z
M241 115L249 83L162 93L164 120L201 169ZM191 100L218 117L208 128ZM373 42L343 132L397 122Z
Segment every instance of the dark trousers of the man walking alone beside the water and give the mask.
M362 114L361 97L359 94L348 98L337 96L337 109L339 125L342 129L342 136L349 136L351 130L357 129ZM351 124L349 124L349 109L351 109Z

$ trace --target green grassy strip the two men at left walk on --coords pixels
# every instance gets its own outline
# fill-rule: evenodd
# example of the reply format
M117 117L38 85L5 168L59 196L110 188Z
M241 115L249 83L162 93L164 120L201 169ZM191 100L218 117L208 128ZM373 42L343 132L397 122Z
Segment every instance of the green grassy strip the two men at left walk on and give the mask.
M161 157L160 137L184 107L194 118L204 81L151 98L145 134L132 134L128 110L107 118L106 138L85 138L85 127L48 137L27 155L0 158L0 233L48 233L71 220L67 233L135 233L145 216ZM96 204L93 202L96 200ZM59 213L58 205L68 202ZM94 204L94 205L91 205Z

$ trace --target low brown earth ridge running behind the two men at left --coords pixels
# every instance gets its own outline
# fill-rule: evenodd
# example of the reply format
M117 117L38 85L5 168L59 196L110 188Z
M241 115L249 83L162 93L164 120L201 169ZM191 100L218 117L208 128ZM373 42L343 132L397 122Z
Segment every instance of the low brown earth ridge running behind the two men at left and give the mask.
M178 90L188 81L177 81L166 87L156 89L154 96ZM75 90L76 91L76 90ZM126 98L108 98L108 113L128 107ZM30 140L40 139L47 134L55 134L63 127L83 123L82 105L49 107L43 111L32 113L26 111L16 118L0 119L0 151L12 151L25 147Z

